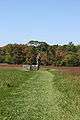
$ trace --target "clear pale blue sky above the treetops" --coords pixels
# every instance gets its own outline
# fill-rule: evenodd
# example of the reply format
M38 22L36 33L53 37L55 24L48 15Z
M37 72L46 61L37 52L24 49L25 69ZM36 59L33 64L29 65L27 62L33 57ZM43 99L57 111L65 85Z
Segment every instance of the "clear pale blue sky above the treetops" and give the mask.
M80 0L0 0L0 46L80 44Z

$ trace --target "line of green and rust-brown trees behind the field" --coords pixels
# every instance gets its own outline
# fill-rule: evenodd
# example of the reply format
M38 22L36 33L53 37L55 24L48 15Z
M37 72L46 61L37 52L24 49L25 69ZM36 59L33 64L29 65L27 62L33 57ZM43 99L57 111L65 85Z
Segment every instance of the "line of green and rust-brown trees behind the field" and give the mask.
M0 47L0 63L36 64L40 54L41 65L80 66L80 45L49 45L30 41L28 44L8 44Z

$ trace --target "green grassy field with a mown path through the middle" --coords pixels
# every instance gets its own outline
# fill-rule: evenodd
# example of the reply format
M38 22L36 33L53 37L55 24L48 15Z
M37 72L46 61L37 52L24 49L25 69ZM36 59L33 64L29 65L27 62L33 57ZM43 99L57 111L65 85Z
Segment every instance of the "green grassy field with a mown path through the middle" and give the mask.
M0 69L0 120L80 120L80 73Z

